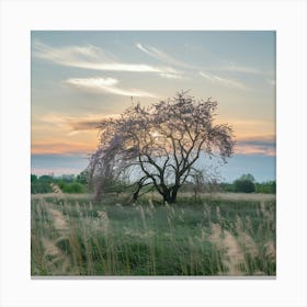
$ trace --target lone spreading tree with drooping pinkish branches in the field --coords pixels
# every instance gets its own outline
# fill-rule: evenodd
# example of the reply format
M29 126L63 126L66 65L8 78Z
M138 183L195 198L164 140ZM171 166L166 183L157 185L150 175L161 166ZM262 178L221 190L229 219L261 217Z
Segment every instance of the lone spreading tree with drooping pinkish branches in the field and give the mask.
M178 191L193 174L200 154L232 155L232 129L215 124L217 102L195 100L187 92L154 103L132 105L121 116L99 124L100 141L89 164L96 197L106 182L127 175L134 182L133 201L156 190L164 202L175 203Z

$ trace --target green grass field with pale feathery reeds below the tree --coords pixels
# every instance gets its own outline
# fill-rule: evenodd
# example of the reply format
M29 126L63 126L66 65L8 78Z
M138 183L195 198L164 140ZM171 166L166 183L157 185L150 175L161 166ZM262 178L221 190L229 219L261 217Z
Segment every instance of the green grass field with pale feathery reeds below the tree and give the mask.
M154 197L155 198L155 197ZM32 195L32 275L275 275L275 196Z

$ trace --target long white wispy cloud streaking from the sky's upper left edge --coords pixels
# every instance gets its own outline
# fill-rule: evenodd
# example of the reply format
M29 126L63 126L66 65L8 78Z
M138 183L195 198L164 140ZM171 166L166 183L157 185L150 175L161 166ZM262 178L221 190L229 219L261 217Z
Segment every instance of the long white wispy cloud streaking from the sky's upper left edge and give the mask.
M101 48L92 45L52 47L41 42L34 43L33 56L52 62L106 71L175 73L170 67L156 67L146 64L126 64L114 61Z

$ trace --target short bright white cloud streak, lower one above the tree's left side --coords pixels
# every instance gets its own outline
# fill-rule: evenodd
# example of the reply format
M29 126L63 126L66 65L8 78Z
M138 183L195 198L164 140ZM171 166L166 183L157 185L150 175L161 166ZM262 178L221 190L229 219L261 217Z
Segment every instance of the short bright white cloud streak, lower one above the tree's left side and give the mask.
M106 92L124 96L157 98L156 94L147 91L118 88L118 80L113 78L70 78L65 83L90 92Z

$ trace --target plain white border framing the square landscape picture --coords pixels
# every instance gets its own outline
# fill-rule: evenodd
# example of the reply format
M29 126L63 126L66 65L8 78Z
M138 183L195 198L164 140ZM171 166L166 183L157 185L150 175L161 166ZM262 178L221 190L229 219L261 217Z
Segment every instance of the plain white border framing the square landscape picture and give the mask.
M276 280L31 280L30 31L111 29L277 31ZM306 29L305 1L2 1L0 305L307 306Z

